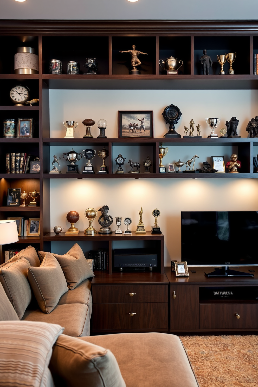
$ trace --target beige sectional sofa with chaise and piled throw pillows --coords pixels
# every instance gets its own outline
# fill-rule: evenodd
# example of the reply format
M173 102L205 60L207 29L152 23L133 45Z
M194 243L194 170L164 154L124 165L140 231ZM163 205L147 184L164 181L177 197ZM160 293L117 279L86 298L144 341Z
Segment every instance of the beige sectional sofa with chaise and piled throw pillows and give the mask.
M62 274L52 254L39 252L38 256L36 251L29 247L20 252L11 262L0 266L0 361L6 362L3 375L0 367L0 379L5 377L9 383L9 379L14 379L18 374L19 386L25 387L29 372L26 371L26 383L22 384L22 375L19 375L19 372L22 373L21 368L17 372L15 364L19 365L19 362L24 364L25 352L29 367L33 362L37 362L33 351L31 352L33 359L28 358L28 348L30 345L36 345L38 348L38 344L35 344L36 336L39 336L39 345L45 348L48 340L46 337L43 338L43 332L48 338L49 334L46 332L49 331L52 332L53 337L50 340L45 363L46 367L50 363L50 370L47 368L41 376L38 376L42 378L40 386L198 387L191 363L177 336L163 333L88 336L92 309L90 279L80 281L85 277L80 270L79 277L78 273L75 273L77 278L69 277L66 272L67 266L64 265L67 259L74 258L70 254L77 256L77 259L80 256L78 245L75 245L74 249L64 256L56 255L56 260L61 262L63 272L66 274L68 287L66 290L59 284L53 285L54 288L56 286L57 293L64 292L58 300L51 291L46 291L51 275L61 276ZM84 261L86 261L85 258ZM87 265L86 277L93 276L93 272L89 272ZM42 273L45 276L43 276L43 282ZM28 277L34 295L37 295L37 301L33 300L31 288L28 286ZM44 294L38 295L38 289L41 289ZM6 324L5 321L7 321ZM44 328L46 323L49 329ZM26 329L28 341L31 330L35 329L32 344L26 344ZM24 348L17 345L21 337ZM11 353L8 352L8 348L12 348ZM22 357L19 358L19 356ZM9 372L8 366L10 366ZM35 366L40 370L38 364ZM35 377L35 370L32 371L31 377ZM33 382L31 385L34 385Z

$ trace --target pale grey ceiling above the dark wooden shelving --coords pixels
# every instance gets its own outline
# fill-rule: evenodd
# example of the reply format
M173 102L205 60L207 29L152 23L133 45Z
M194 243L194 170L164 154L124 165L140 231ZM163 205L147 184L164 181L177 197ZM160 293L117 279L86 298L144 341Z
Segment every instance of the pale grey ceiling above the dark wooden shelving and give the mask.
M258 0L0 0L0 19L258 19Z

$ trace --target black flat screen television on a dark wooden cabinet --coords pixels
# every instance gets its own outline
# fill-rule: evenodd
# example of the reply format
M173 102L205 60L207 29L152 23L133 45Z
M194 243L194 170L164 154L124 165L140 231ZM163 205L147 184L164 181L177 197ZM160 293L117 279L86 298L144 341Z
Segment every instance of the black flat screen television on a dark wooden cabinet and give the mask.
M258 211L181 212L181 259L215 267L207 276L253 276L229 267L258 266Z

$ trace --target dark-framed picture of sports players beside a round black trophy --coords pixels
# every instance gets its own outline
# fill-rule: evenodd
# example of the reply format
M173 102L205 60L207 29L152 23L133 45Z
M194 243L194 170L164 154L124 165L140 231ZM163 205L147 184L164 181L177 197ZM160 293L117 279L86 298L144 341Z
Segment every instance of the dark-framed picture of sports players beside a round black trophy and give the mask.
M118 137L153 137L153 111L119 111Z

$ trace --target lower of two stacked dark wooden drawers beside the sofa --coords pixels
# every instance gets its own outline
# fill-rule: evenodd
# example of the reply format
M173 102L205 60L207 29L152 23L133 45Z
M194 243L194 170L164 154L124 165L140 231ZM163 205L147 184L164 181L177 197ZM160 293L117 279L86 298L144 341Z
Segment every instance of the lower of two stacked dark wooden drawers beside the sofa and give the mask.
M130 313L136 313L132 317ZM167 303L95 304L93 330L167 330Z

